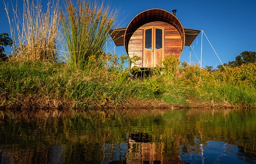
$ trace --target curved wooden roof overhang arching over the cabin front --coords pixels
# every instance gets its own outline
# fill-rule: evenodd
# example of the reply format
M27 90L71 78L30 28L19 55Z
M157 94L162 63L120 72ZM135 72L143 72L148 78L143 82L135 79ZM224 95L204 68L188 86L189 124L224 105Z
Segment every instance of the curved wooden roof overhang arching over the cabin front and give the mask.
M132 21L127 26L127 29L124 34L124 48L127 54L128 54L128 44L132 34L140 26L143 26L146 23L154 22L154 21L162 21L162 22L169 23L170 25L174 26L177 29L178 33L181 36L181 41L182 41L181 53L182 53L185 45L185 32L184 32L183 26L181 25L181 22L172 13L166 10L154 8L154 9L146 10L139 13L138 15L136 15L136 17L132 19Z

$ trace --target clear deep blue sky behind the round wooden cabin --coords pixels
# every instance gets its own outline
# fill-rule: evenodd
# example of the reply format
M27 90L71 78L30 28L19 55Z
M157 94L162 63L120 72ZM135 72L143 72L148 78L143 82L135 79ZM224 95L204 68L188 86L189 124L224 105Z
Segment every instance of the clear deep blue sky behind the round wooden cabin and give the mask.
M23 4L23 0L18 1ZM204 31L222 63L235 60L243 51L256 51L256 0L105 0L108 1L119 9L117 22L121 27L128 26L137 14L151 8L169 12L176 9L176 16L184 28ZM0 20L0 33L10 34L3 0L0 0ZM196 55L191 51L191 62L199 63L196 56L200 60L201 33L192 47ZM202 49L203 67L221 64L204 35ZM125 53L124 46L117 47L116 53ZM188 46L180 60L189 63Z

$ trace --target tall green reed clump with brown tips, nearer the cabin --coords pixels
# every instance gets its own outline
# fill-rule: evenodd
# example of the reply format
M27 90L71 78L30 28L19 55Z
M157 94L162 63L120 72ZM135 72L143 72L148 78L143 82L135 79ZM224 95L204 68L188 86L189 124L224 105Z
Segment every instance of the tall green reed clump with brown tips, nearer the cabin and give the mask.
M90 62L100 64L104 55L109 30L115 25L117 10L112 10L104 2L68 0L67 15L61 14L61 27L64 36L68 64L72 69L83 70Z

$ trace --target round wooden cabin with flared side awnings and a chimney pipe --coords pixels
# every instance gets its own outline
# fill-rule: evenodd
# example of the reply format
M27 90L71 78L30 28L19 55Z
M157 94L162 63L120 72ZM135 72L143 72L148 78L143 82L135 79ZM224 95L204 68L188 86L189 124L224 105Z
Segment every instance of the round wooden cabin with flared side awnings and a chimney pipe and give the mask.
M162 9L150 9L136 15L125 28L111 30L116 46L124 45L131 59L140 60L130 63L130 67L150 68L173 55L179 59L184 46L190 46L200 30L183 28L173 14Z

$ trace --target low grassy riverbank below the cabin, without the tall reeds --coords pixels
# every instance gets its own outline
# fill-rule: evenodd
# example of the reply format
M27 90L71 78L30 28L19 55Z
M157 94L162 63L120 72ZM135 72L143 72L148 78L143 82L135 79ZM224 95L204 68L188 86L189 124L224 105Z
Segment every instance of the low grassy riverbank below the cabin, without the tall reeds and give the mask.
M186 63L155 68L147 78L92 64L1 62L0 108L256 108L256 65L200 70Z

